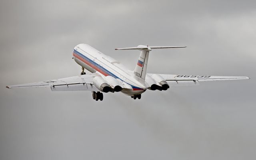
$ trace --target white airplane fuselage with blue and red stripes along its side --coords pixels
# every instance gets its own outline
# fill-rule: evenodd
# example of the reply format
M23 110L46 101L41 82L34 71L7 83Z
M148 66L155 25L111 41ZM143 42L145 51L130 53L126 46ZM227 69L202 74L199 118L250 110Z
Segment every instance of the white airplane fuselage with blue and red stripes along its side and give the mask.
M92 73L98 72L102 76L112 76L118 79L125 86L121 91L124 94L132 96L146 91L146 86L134 78L132 71L88 44L75 46L73 58L76 63Z

